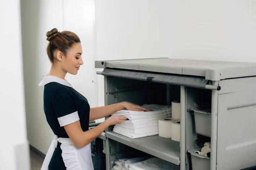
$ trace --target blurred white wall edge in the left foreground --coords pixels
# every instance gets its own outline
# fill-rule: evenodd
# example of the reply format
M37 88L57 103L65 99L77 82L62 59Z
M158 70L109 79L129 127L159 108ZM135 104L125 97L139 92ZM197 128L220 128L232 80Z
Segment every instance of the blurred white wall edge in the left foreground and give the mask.
M29 170L19 0L1 3L0 21L0 169Z

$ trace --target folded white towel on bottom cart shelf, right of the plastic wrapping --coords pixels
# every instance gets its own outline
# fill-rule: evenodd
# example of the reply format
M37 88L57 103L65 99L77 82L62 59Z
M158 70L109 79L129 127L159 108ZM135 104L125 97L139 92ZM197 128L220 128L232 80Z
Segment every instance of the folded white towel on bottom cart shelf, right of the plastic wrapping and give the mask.
M145 161L130 164L130 170L180 170L180 167L159 158L150 158Z

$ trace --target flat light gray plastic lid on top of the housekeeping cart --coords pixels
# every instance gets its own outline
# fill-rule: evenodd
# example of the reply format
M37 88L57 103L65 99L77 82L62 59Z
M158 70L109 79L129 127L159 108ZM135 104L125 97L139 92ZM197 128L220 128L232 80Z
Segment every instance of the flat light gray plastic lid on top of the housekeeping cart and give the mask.
M256 76L256 63L192 59L129 59L96 61L95 68L120 68L205 77L207 80Z

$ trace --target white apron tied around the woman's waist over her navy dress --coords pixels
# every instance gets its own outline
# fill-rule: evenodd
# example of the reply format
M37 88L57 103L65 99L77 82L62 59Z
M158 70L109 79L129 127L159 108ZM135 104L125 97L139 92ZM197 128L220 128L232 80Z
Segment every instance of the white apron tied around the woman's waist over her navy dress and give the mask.
M58 138L56 135L45 156L41 170L48 170L49 163L58 142L61 143L61 156L66 170L93 170L90 143L82 148L78 148L73 144L70 138Z

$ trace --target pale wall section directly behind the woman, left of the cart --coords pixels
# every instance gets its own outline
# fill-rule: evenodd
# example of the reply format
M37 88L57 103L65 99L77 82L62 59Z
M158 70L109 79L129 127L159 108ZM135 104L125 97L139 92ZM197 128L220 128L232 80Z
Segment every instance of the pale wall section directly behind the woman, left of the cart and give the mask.
M84 65L66 79L95 107L93 59L93 0L21 0L26 120L29 143L46 154L53 139L44 114L43 87L38 83L49 73L46 32L52 28L73 31L81 39Z

